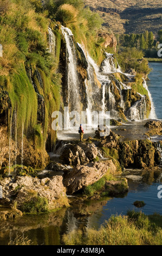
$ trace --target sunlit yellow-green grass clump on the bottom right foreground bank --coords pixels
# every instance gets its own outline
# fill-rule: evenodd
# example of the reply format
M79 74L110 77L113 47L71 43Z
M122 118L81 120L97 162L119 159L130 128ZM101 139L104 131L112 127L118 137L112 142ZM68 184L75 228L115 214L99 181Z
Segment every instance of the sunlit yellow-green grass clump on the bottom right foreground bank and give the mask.
M72 231L63 235L65 245L162 245L162 230L141 212L111 216L99 230Z

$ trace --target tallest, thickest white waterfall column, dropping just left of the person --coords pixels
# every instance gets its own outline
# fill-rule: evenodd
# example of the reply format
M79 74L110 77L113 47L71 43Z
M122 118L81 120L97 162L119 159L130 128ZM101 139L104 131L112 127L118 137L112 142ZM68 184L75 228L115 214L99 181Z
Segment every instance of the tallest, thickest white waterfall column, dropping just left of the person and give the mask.
M80 110L79 100L79 80L77 77L75 47L73 43L73 33L70 29L61 26L62 34L66 40L66 56L67 56L67 86L68 86L68 102L69 111Z

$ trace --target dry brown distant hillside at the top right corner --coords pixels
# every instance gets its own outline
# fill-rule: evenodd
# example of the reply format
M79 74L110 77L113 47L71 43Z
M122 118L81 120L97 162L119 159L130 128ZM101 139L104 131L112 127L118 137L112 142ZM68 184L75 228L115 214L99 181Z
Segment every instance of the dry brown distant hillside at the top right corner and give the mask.
M102 17L103 26L114 33L157 33L162 28L162 3L157 1L85 0ZM127 25L126 25L127 22Z

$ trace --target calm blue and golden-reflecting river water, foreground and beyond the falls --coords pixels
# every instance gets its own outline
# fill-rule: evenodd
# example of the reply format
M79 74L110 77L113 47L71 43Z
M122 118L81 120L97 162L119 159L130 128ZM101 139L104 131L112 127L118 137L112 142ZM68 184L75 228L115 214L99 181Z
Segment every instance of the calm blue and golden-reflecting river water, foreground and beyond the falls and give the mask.
M158 119L162 119L162 63L150 63L153 69L147 82L152 95ZM122 175L128 179L129 192L118 198L88 200L85 204L72 204L68 209L42 215L27 215L15 220L1 223L0 245L8 245L16 235L28 236L33 245L60 245L64 232L82 227L99 228L112 214L125 215L128 210L141 210L146 215L162 214L162 199L158 198L158 186L162 184L161 174L144 173L141 170L129 169ZM75 198L74 198L75 200ZM136 200L144 200L143 208L135 208ZM81 216L79 212L91 212Z

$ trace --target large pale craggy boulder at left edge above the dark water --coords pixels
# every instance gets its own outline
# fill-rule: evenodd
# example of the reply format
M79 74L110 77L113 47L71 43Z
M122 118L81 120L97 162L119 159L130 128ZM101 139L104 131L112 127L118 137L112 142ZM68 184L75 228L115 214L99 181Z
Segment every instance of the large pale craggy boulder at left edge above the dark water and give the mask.
M47 199L48 210L68 205L66 188L62 183L62 176L56 175L50 178L37 179L31 176L17 176L14 181L5 178L0 181L3 191L3 199L9 204L16 204L17 209L22 209L25 202L34 198Z

